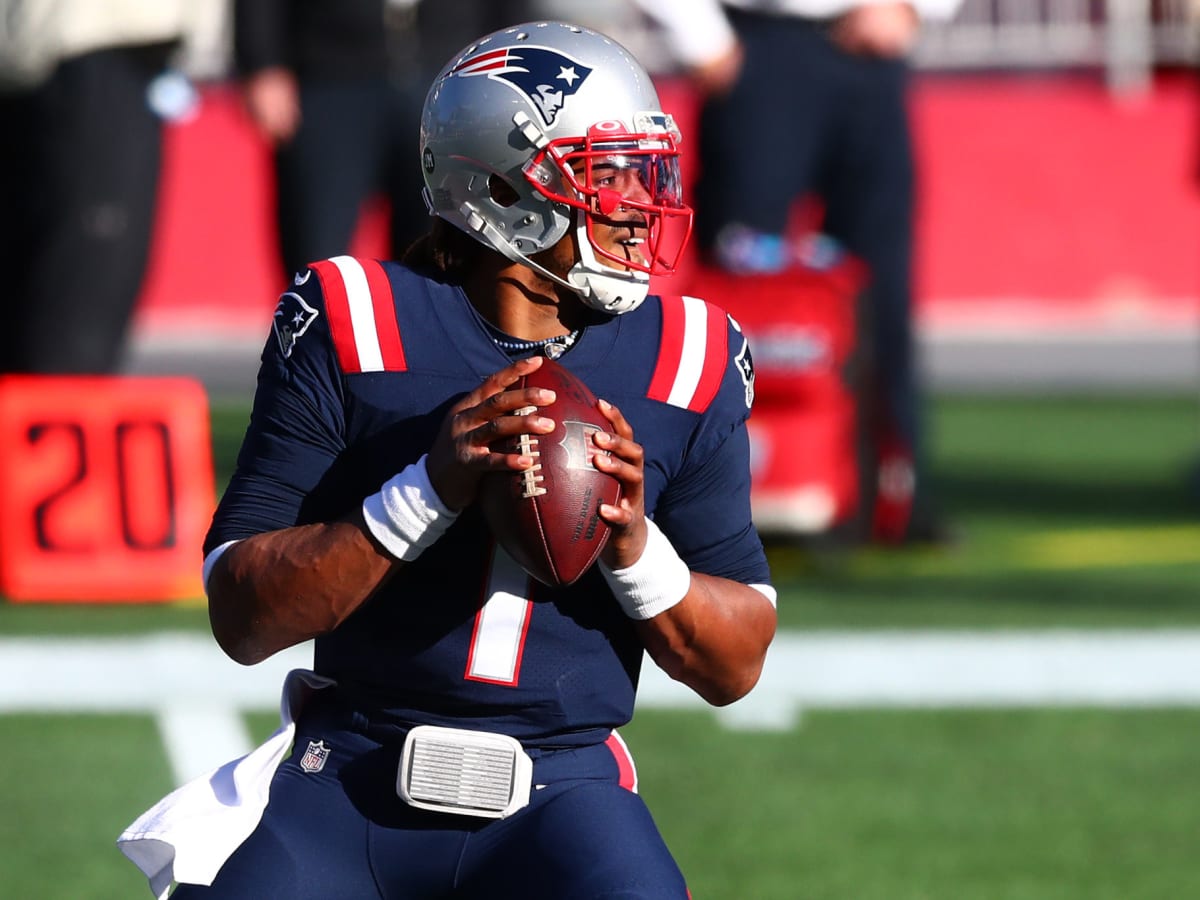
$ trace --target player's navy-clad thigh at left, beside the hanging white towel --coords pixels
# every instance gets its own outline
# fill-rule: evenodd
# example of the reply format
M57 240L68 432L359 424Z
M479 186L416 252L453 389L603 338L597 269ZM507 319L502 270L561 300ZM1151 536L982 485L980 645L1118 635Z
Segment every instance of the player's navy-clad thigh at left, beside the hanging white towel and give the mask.
M366 821L336 779L284 764L254 832L211 887L181 884L173 900L355 900L378 898Z

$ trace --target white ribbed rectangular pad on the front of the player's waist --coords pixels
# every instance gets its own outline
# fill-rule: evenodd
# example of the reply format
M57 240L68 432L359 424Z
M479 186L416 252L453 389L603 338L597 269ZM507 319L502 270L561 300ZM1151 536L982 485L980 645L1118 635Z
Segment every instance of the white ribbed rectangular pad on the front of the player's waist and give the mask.
M508 734L419 725L404 738L396 792L409 806L504 818L529 804L533 761Z

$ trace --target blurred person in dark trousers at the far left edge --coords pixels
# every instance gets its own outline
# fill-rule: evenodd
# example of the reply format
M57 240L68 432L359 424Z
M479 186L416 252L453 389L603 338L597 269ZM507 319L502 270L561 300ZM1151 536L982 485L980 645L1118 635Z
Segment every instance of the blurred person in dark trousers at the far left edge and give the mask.
M119 368L185 6L0 0L0 372Z

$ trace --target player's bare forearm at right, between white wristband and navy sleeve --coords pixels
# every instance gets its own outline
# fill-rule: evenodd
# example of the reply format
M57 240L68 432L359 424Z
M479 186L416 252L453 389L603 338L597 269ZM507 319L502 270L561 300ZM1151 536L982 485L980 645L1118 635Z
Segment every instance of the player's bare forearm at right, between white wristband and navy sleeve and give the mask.
M775 608L754 588L692 572L683 601L637 629L664 672L713 706L726 706L757 684Z

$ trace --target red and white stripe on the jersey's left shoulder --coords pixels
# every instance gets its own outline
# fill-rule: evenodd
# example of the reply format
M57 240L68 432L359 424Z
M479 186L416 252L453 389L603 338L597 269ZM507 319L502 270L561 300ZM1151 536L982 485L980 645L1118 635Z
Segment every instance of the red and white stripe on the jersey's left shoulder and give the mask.
M320 280L329 331L342 371L352 374L408 368L391 282L379 260L343 256L308 268Z

